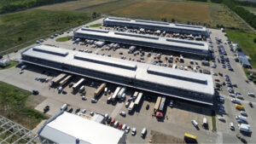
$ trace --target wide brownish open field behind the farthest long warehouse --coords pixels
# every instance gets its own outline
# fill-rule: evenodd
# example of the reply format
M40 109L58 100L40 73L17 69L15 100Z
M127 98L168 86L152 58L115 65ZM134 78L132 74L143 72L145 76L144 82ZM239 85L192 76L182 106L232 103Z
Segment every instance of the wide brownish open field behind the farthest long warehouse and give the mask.
M87 0L81 0L79 3L84 3L85 1ZM44 6L38 9L75 10L89 14L96 12L145 20L161 20L166 18L168 21L174 19L177 22L189 22L208 27L216 27L218 24L219 26L223 25L225 27L249 30L247 25L236 14L218 3L187 2L182 0L122 0L96 4L99 1L101 0L93 2L95 5L91 1L86 3L87 6L68 2Z

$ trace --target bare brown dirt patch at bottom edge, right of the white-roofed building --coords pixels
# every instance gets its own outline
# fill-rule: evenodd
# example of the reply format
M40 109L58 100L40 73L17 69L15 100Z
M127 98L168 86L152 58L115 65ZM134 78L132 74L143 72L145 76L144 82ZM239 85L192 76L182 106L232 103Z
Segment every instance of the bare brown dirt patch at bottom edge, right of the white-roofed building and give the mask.
M186 143L183 139L151 130L149 143Z

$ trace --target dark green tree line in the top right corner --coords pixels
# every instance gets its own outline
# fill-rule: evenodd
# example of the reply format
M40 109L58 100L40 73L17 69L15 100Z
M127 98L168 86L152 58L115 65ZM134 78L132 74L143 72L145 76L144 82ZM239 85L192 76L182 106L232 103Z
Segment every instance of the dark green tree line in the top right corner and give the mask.
M250 26L256 29L256 15L251 13L249 10L244 9L240 5L237 4L237 2L233 0L211 0L212 3L224 3L227 7L229 7L231 10L236 12L241 19L245 20Z

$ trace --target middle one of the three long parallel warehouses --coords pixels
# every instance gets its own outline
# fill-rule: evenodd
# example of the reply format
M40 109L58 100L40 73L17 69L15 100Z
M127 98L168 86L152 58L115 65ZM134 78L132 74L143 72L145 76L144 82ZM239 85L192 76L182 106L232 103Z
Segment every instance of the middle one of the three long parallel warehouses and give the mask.
M166 49L180 53L201 55L202 57L207 57L209 55L207 43L170 37L155 37L143 34L113 32L85 27L75 30L74 37L90 38L100 41L103 40L113 43L125 43L154 49Z

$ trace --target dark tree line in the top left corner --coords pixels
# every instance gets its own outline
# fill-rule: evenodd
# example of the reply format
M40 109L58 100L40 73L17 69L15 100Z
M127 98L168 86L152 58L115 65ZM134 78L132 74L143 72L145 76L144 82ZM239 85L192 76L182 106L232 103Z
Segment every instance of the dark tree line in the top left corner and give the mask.
M23 9L29 9L32 7L37 7L45 4L61 3L67 1L74 0L18 0L3 4L3 6L0 7L0 14L14 12Z

